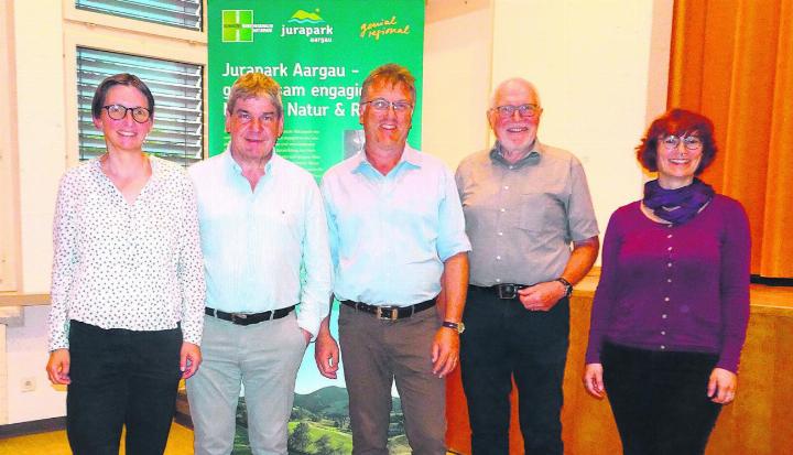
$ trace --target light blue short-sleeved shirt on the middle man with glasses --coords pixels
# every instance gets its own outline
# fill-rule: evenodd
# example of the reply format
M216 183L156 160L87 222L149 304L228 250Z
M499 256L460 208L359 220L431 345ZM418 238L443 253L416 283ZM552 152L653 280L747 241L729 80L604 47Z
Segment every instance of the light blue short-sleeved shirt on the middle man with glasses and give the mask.
M323 177L336 297L406 306L441 292L444 261L470 250L452 172L405 147L382 175L363 152Z

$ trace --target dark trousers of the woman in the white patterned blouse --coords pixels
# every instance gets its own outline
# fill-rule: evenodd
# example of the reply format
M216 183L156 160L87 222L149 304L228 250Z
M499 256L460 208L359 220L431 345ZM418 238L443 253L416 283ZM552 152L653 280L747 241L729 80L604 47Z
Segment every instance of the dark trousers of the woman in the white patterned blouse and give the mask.
M72 321L66 432L76 455L165 451L181 377L182 332L102 329Z

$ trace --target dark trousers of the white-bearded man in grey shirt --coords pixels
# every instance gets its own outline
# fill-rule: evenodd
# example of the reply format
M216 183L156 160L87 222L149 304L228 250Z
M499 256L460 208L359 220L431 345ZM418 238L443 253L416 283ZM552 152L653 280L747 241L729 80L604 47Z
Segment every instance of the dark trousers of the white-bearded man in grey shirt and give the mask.
M509 454L509 396L514 376L525 453L562 455L568 300L561 300L550 312L530 312L518 300L501 300L470 286L463 321L460 367L472 453Z

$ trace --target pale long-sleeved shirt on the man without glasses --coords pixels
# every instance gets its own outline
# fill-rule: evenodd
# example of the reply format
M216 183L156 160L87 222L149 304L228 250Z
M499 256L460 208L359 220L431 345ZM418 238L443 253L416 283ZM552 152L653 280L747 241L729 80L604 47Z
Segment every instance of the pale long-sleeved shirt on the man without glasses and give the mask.
M273 153L251 191L228 150L194 164L189 175L198 195L206 305L261 313L300 303L297 324L316 335L328 313L330 258L314 177Z

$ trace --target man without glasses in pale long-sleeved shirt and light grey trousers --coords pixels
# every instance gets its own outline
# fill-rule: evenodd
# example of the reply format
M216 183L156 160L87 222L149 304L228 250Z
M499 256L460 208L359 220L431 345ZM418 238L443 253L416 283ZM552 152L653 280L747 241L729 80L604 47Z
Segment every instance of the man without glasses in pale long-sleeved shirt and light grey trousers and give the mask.
M189 170L207 280L204 364L187 381L195 453L231 452L242 384L253 453L286 454L297 368L328 313L327 221L314 177L273 153L278 83L241 76L226 130L228 150Z

